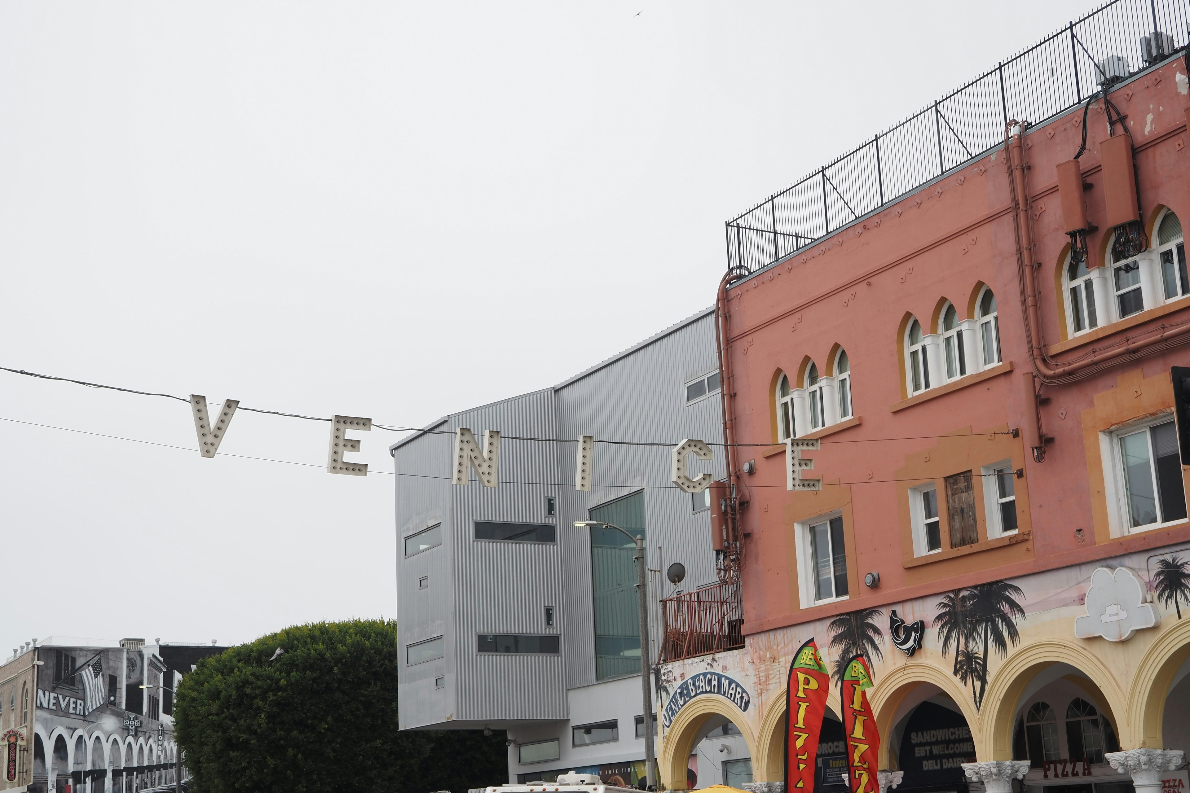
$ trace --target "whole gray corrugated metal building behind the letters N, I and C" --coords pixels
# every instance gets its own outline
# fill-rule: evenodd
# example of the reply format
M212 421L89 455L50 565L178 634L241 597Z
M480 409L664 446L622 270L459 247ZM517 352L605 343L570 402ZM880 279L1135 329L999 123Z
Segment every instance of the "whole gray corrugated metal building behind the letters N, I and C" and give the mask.
M451 484L458 427L481 445L483 430L500 430L499 486L474 473ZM665 445L596 443L594 487L576 491L580 435ZM722 439L712 309L553 388L452 414L393 446L402 729L507 729L513 781L644 759L632 552L622 535L574 522L643 529L650 568L681 561L683 589L714 583L706 495L669 482L668 443L685 438ZM691 458L690 476L725 477L714 448L712 461ZM659 572L650 586L656 659L657 600L674 587ZM572 734L588 724L597 726Z

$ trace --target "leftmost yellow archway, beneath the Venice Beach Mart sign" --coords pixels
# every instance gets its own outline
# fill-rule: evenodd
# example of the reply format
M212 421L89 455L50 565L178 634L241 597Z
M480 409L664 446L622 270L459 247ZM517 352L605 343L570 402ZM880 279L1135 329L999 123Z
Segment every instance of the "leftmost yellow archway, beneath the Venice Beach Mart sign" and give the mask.
M665 730L657 767L670 789L716 782L738 787L752 781L753 757L756 739L744 711L726 697L703 694L677 711Z

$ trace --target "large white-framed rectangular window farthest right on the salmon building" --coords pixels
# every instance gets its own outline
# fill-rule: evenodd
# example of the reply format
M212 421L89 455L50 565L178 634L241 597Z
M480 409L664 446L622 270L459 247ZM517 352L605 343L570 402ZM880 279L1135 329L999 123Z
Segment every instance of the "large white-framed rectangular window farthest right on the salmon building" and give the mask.
M1178 433L1166 414L1107 435L1115 468L1115 508L1127 534L1186 517Z

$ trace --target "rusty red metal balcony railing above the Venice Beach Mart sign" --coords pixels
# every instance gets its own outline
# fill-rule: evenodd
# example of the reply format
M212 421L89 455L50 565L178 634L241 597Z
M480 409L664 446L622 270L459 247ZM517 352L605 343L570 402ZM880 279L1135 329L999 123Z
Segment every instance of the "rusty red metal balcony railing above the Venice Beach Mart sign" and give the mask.
M715 584L662 599L663 661L681 661L744 647L739 584Z

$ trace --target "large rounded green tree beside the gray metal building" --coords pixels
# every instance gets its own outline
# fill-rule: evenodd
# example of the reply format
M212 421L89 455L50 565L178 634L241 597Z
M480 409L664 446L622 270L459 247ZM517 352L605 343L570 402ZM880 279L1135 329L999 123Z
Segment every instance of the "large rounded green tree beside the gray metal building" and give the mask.
M284 653L274 657L277 648ZM195 792L426 793L503 782L503 732L400 731L400 666L396 623L378 619L295 625L203 659L182 679L174 710Z

